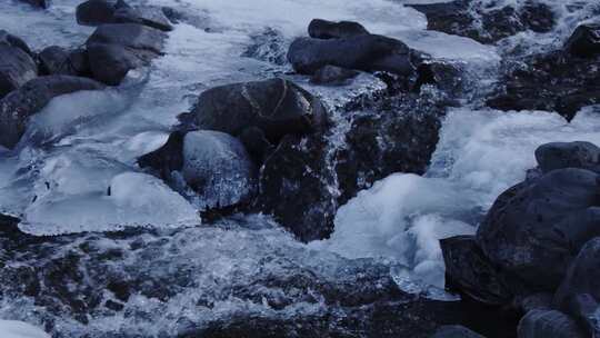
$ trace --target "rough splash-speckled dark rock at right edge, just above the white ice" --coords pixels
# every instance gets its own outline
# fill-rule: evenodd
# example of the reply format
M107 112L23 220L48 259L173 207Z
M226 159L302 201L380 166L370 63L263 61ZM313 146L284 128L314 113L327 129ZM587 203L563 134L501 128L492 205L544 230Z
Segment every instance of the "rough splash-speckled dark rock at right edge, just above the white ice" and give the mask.
M500 110L557 111L568 120L583 107L600 102L597 59L562 51L534 54L504 67L501 90L488 100Z

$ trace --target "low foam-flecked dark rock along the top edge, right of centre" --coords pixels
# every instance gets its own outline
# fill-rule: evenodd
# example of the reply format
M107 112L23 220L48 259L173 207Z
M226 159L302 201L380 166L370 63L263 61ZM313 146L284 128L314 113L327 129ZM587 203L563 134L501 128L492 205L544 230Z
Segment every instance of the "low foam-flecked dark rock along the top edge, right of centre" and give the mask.
M428 29L493 43L518 32L549 32L554 26L552 9L537 1L522 7L484 8L478 1L454 0L443 3L409 4L424 13Z

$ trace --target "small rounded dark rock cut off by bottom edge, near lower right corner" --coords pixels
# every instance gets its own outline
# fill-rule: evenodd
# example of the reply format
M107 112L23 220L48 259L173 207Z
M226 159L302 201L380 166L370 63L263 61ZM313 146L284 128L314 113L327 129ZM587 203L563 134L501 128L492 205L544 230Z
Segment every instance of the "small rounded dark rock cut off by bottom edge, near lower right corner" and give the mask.
M583 338L569 316L556 310L529 311L519 322L519 338Z

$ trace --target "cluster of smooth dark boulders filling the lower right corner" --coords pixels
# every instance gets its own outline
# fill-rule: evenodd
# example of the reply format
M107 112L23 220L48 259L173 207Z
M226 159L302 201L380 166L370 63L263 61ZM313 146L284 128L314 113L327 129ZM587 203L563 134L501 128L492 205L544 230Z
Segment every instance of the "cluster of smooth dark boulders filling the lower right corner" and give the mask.
M500 195L476 236L441 241L448 286L527 312L519 337L600 334L599 153L589 142L538 148L538 177Z

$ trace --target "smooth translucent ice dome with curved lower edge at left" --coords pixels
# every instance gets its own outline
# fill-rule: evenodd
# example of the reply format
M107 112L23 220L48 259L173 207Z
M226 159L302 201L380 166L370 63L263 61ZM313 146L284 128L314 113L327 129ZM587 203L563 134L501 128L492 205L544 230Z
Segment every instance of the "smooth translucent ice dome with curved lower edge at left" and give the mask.
M33 235L58 235L80 231L109 231L126 227L180 227L201 222L196 210L183 197L174 192L160 179L139 172L123 172L102 186L93 179L93 172L81 177L81 163L67 163L66 170L79 175L84 191L71 175L58 177L66 185L50 181L48 192L40 195L23 215L20 229ZM97 165L97 163L96 163ZM99 166L93 166L99 170ZM110 172L113 168L107 168ZM106 173L104 178L107 178ZM77 178L76 178L77 179ZM103 188L103 189L99 189ZM43 189L43 188L42 188ZM74 190L74 191L73 191Z

